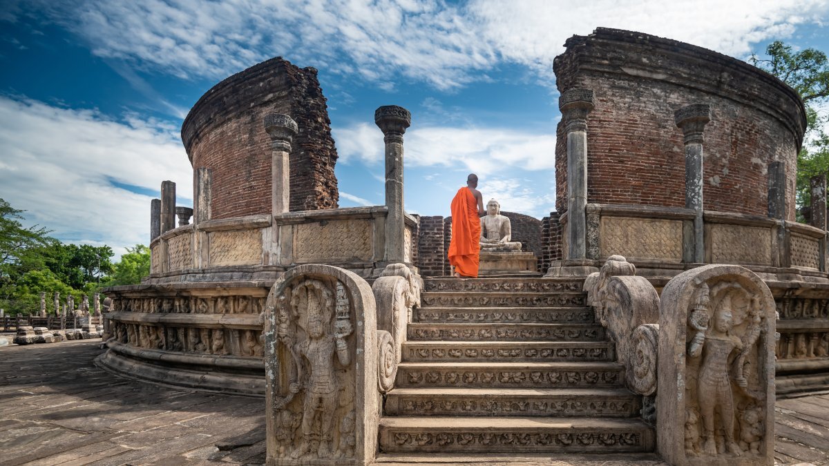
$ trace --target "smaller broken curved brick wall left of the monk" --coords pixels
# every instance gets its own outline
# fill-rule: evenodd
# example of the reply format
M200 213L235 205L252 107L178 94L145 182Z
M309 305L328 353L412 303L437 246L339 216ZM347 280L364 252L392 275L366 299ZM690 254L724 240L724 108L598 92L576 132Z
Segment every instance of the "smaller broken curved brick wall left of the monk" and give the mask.
M290 210L337 207L337 149L317 70L276 57L208 90L182 124L193 169L213 170L213 219L270 212L271 151L263 120L272 112L290 115L299 127L291 152Z

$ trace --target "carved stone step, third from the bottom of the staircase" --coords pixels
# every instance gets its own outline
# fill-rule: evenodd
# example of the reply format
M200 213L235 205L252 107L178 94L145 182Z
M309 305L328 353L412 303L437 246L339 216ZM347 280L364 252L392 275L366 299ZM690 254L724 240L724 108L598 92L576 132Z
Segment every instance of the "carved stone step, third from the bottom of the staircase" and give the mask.
M618 362L400 362L395 386L618 387L623 381Z

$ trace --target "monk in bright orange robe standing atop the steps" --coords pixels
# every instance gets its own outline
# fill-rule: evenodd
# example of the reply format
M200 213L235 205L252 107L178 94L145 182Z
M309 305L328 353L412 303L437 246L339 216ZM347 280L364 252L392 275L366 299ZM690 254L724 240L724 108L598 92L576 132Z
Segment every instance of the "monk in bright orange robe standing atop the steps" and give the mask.
M483 210L483 197L478 187L478 175L467 177L467 185L458 189L452 200L452 240L449 242L449 264L455 268L455 278L478 276L478 255L481 251L480 217L487 213Z

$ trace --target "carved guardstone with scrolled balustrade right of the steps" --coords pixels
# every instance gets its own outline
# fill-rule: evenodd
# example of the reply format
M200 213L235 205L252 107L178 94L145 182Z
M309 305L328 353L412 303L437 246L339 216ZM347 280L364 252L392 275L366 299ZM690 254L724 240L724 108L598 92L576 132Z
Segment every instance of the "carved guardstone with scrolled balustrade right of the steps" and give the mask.
M622 256L585 282L670 464L773 464L776 312L739 265L676 275L661 298ZM655 412L654 412L655 411Z

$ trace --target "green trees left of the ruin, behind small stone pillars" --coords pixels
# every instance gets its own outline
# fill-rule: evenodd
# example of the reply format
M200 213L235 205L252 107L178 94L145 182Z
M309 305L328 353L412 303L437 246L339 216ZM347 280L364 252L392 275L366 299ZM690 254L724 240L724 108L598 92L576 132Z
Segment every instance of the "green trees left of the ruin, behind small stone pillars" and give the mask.
M64 244L52 238L42 226L24 227L21 210L0 198L0 308L9 314L37 313L41 292L46 292L46 309L54 313L54 293L61 303L72 295L80 305L108 286L138 284L150 272L147 246L127 248L113 263L108 245Z

